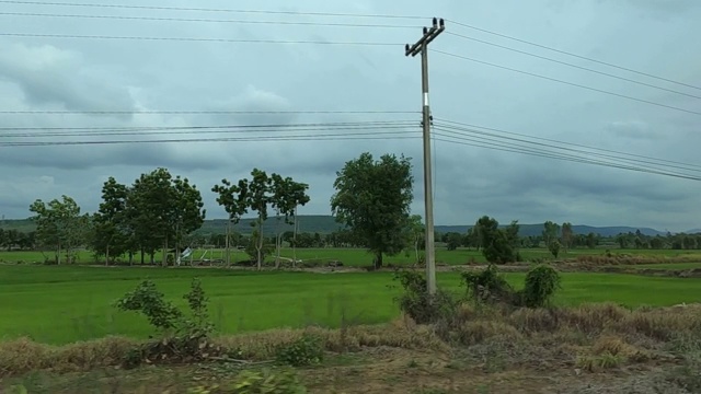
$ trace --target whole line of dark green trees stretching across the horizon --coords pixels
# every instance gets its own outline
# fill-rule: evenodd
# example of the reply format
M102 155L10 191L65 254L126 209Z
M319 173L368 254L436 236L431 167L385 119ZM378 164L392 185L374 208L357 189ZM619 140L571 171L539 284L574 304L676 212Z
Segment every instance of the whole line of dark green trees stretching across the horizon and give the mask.
M56 264L73 262L80 246L93 251L105 264L123 256L134 264L137 255L141 264L146 256L154 264L159 251L164 256L162 264L174 264L180 262L183 250L205 242L223 246L227 264L230 248L244 248L257 268L271 254L279 266L283 244L292 247L292 260L297 247L333 246L367 248L375 267L383 265L383 256L402 252L421 263L425 231L422 217L410 211L413 182L411 159L404 155L384 154L375 159L366 152L346 162L336 172L335 193L330 201L332 215L344 229L322 235L298 233L297 225L295 231L279 231L283 222L296 223L298 207L310 201L308 184L253 169L250 177L235 182L223 178L211 186L217 204L228 215L227 230L223 236L203 240L194 233L207 213L200 192L187 178L159 167L141 174L130 185L110 177L103 184L102 201L93 215L81 213L69 196L48 202L37 199L30 207L36 231L31 235L2 231L0 243L9 248L53 250ZM249 213L255 215L251 235L232 232L232 225ZM276 224L264 229L268 217L274 217ZM518 221L502 227L496 219L484 216L467 233L437 233L436 240L450 251L474 247L491 263L519 260L518 251L525 247L548 247L558 257L570 248L594 248L604 241L594 233L575 234L571 223L548 221L539 236L520 237L518 230ZM696 248L701 247L701 235L650 237L639 231L619 234L616 242L621 247Z

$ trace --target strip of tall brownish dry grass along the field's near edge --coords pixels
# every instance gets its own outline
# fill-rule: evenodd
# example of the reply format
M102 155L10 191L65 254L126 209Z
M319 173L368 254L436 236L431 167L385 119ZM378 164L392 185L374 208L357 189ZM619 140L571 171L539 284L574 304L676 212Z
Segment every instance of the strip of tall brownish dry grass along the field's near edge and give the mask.
M681 363L701 355L701 306L628 310L614 304L584 304L552 310L492 309L462 305L448 336L409 317L388 325L348 326L338 331L309 327L220 336L215 345L237 358L272 359L275 349L303 334L320 337L331 352L398 348L434 355L460 354L483 371L563 368L604 371L648 361ZM30 339L0 343L0 375L48 370L57 373L117 366L138 343L108 337L51 347ZM443 356L441 356L443 357ZM499 372L501 373L501 372Z

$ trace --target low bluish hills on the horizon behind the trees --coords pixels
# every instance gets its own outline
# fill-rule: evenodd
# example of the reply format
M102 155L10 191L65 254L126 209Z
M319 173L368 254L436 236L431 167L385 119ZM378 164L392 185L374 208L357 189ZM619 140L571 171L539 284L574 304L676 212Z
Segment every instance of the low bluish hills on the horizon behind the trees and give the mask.
M252 229L251 223L253 222L253 220L254 219L242 219L238 224L233 227L234 231L243 234L251 233L251 229ZM325 234L343 228L342 224L335 221L334 217L329 215L299 216L297 218L297 221L299 224L300 232L310 232L310 233L318 232L320 234ZM200 234L221 234L225 232L226 224L227 224L226 219L205 220L205 223L203 224L202 229L199 229L197 232ZM274 229L276 224L277 223L275 218L268 218L264 224L264 229L267 229L269 231ZM540 235L543 230L543 225L540 223L539 224L519 224L519 225L520 225L520 231L519 231L520 236ZM436 231L441 233L459 232L464 234L471 228L472 225L436 225ZM35 229L35 225L28 219L4 220L3 222L0 223L0 229L15 229L22 232L28 232L28 231L33 231ZM280 231L287 231L287 230L291 231L294 230L294 227L291 224L286 224L284 220L280 220L279 229ZM590 227L590 225L573 225L572 229L576 234L588 234L593 232L595 234L600 234L601 236L613 236L620 233L628 233L628 232L634 233L636 230L639 230L639 228L632 228L632 227L600 227L599 228L599 227ZM640 228L640 231L645 235L653 235L653 236L666 234L665 232L657 231L655 229L650 229L650 228ZM701 233L701 229L690 230L687 233L697 233L697 232Z

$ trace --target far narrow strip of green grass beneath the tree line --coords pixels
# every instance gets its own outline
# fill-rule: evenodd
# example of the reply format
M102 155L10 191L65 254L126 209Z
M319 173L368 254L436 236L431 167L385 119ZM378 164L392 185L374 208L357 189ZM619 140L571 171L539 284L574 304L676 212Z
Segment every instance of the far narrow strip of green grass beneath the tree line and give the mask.
M196 250L193 254L194 258L198 259L203 256L204 250ZM560 255L560 258L586 258L586 257L600 257L605 259L607 251L602 248L577 248L571 250L567 253ZM673 250L611 250L610 253L616 255L629 255L639 256L643 259L658 258L687 258L698 259L701 262L700 251L673 251ZM53 253L46 253L46 256L53 257ZM212 255L214 254L214 255ZM358 267L369 266L372 263L372 256L365 250L360 248L299 248L297 250L297 258L302 260L321 260L327 263L330 260L340 260L345 266ZM520 250L521 259L526 262L532 260L551 260L552 255L545 248L522 248ZM291 258L291 248L283 248L280 256ZM233 252L232 260L245 259L248 256L242 252ZM207 253L206 258L223 258L223 251L215 250ZM162 254L156 254L156 260L162 259ZM126 257L123 257L126 262ZM150 256L146 256L145 262L148 264ZM274 260L274 257L268 257L267 260ZM7 252L0 251L0 263L43 263L44 255L41 252ZM140 264L140 255L137 255L134 259L135 264ZM407 265L415 263L415 256L413 252L409 254L400 254L397 256L386 256L386 264L392 265ZM481 251L458 248L457 251L448 251L445 247L438 246L436 248L436 262L438 264L446 265L464 265L470 263L486 263ZM78 253L78 264L103 264L104 260L95 262L92 253L89 251L80 251Z

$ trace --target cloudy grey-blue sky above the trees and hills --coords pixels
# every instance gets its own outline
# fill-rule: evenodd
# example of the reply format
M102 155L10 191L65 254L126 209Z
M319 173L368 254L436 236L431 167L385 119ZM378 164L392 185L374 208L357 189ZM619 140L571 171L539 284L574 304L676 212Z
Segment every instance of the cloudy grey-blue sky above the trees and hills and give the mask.
M163 4L156 1L119 3ZM235 5L230 1L203 0L194 4L188 1L168 3L169 7L220 10L235 7L238 10L425 19L0 3L0 33L5 33L0 34L0 142L222 137L202 129L191 134L157 136L18 137L18 130L12 128L21 127L82 127L85 128L82 132L96 132L95 128L368 121L404 121L411 126L401 129L402 136L416 138L382 136L389 129L380 131L366 126L360 127L360 131L364 135L375 134L375 139L42 147L0 143L0 215L8 219L26 218L30 216L28 206L35 199L50 200L61 195L73 197L84 211L94 211L100 204L102 184L108 176L130 184L139 174L159 166L168 167L173 175L188 177L202 190L208 218L223 218L226 215L215 201L210 192L212 185L222 178L237 181L246 177L253 167L291 176L310 185L311 201L300 208L299 215L330 215L336 172L345 162L366 151L378 158L384 153L412 158L415 178L412 210L423 215L423 146L418 138L421 60L418 57L405 57L404 44L416 42L422 35L422 26L429 25L430 19L438 16L446 19L446 32L430 44L428 54L430 106L434 127L437 125L438 128L434 128L434 134L444 136L435 137L437 140L433 141L436 224L468 224L489 215L505 223L512 220L521 223L553 220L669 231L701 228L701 206L698 204L701 184L698 181L470 146L466 143L479 140L482 144L496 147L493 139L485 139L492 137L466 135L464 129L450 129L462 134L447 138L450 130L445 128L445 120L450 120L528 136L518 138L544 138L640 158L675 161L691 165L683 170L685 173L701 175L698 155L698 147L701 146L698 127L701 124L701 90L693 88L701 86L701 53L692 49L694 37L701 36L701 24L698 23L701 2L698 0L406 0L401 2L401 7L397 1L369 0L341 3L303 0L294 4L287 0L242 0ZM168 18L250 23L162 20ZM277 23L258 23L263 21ZM456 22L687 85L554 53ZM7 33L394 45L87 39ZM667 90L610 78L455 34ZM73 113L46 113L50 111ZM88 113L100 111L108 114ZM212 111L284 113L182 113ZM47 129L22 132L32 135L47 132ZM250 132L248 136L280 136L285 132L324 135L359 131L318 129L291 132L289 128L283 128L267 134ZM563 153L570 154L560 151ZM618 153L607 154L620 158ZM589 157L589 160L600 158Z

